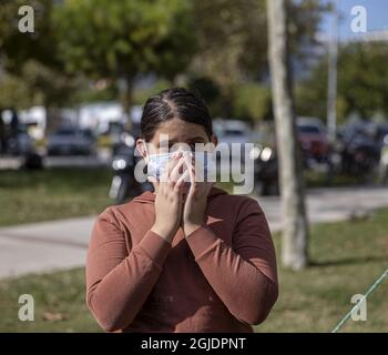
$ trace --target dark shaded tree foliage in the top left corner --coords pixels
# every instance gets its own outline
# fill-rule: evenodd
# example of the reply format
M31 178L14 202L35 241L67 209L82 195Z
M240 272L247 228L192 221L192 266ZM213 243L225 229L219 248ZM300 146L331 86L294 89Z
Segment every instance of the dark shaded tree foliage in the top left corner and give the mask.
M31 33L18 29L21 6L33 9ZM58 54L53 7L52 0L0 0L0 109L44 105L49 129L60 123L57 109L85 87L84 80L64 71Z

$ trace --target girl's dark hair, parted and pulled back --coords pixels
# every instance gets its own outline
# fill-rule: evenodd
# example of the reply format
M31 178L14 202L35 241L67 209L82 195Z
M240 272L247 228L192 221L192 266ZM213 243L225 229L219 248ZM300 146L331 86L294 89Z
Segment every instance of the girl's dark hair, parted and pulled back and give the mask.
M203 99L184 88L172 88L149 98L143 108L141 138L150 142L159 125L178 118L201 124L208 138L213 134L212 116Z

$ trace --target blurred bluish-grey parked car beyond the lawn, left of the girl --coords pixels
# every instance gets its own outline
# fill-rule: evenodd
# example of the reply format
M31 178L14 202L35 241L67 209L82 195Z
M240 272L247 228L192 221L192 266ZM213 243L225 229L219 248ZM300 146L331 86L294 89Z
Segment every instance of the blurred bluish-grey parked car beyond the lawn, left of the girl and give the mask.
M95 136L91 130L65 126L48 138L48 155L91 155Z

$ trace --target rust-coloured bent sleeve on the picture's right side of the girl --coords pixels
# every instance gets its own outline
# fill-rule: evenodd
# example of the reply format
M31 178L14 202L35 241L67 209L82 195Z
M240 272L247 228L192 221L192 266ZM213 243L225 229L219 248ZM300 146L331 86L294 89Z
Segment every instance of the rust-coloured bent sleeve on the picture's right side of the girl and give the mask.
M186 241L207 282L242 323L255 325L268 315L278 296L275 248L263 210L243 203L232 246L202 225Z

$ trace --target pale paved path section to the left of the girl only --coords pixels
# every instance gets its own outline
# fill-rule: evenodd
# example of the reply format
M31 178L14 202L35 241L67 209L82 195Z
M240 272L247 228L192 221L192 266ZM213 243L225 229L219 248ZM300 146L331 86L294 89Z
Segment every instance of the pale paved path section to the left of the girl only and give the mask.
M84 265L94 217L0 229L0 277Z

